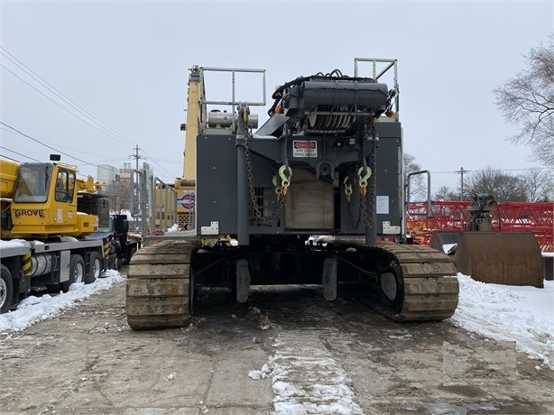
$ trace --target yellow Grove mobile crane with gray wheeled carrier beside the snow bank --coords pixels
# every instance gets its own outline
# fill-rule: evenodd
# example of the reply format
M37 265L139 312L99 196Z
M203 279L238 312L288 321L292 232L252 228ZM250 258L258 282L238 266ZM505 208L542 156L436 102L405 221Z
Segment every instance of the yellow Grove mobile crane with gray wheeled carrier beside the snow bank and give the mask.
M52 162L0 160L0 310L46 287L69 290L106 269L109 207L77 168Z

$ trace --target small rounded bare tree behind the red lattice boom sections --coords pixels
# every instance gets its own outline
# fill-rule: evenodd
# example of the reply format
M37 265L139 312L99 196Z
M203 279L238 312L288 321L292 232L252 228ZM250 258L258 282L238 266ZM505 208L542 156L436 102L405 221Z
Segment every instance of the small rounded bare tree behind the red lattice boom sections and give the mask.
M474 171L467 179L468 195L485 193L499 202L524 202L527 193L523 180L487 166L484 171Z

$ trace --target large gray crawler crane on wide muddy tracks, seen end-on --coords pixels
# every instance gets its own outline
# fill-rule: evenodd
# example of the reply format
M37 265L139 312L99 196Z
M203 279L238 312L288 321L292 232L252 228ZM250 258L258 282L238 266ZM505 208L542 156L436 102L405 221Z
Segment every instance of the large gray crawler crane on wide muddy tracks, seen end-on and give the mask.
M371 77L357 74L364 62ZM320 284L335 300L342 283L354 283L394 320L451 317L454 265L404 237L397 61L356 59L354 76L335 69L292 79L276 88L255 133L252 111L264 100L240 101L233 88L231 111L210 111L210 70L258 73L265 84L262 69L190 69L185 165L196 166L187 183L196 235L134 255L129 325L184 326L199 287L228 287L245 302L263 284Z

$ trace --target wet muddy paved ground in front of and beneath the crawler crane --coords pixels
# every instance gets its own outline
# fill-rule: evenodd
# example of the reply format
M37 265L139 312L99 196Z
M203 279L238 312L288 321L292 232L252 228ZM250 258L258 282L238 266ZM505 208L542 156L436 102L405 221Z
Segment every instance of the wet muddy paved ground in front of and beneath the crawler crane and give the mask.
M4 334L0 413L554 413L552 372L448 321L392 322L319 287L198 300L189 327L134 331L123 281Z

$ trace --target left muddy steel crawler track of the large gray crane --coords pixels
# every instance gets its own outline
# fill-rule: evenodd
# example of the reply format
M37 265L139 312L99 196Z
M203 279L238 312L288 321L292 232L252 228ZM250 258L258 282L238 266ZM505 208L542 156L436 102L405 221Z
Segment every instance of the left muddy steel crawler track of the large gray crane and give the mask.
M196 240L162 241L133 255L126 286L127 322L134 329L189 324L190 256Z

